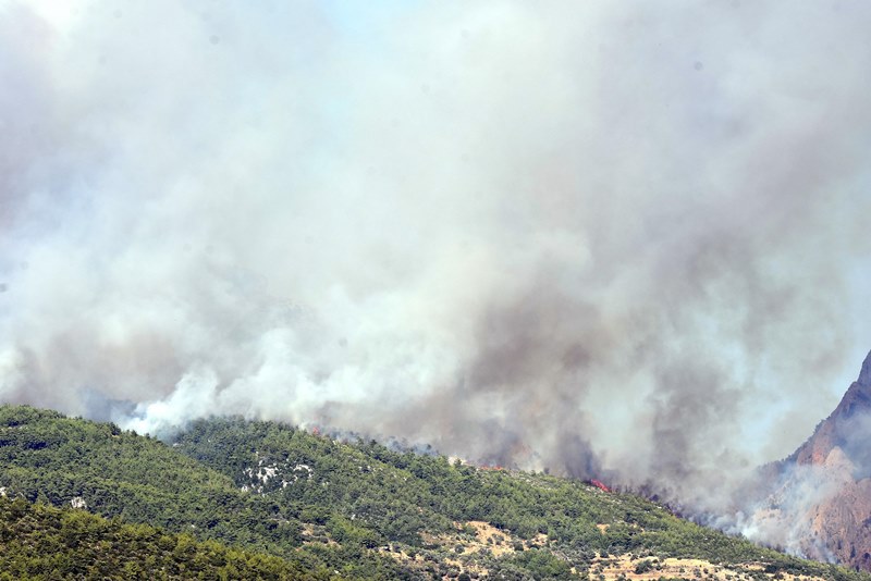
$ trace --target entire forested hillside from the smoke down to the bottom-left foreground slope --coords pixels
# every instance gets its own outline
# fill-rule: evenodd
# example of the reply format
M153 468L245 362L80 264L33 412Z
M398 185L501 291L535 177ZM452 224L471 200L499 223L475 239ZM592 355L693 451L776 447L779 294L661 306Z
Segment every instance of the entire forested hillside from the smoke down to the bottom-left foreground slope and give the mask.
M275 422L212 418L164 443L3 406L0 469L10 498L271 555L286 567L282 574L868 579L701 528L635 495Z

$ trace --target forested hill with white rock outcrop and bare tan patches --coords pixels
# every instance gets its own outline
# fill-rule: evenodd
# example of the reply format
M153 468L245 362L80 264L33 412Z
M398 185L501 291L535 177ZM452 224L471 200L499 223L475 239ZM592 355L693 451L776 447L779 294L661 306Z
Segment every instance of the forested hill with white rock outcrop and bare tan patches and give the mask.
M760 576L760 570L851 574L703 529L638 496L393 452L372 441L210 419L195 422L174 446L240 489L293 508L312 523L311 539L341 543L353 529L368 546L434 577L457 570L508 579L530 572L567 578L572 571L651 579ZM686 560L666 570L668 558ZM700 568L699 559L710 567ZM657 567L643 570L648 561ZM619 563L628 563L628 570Z

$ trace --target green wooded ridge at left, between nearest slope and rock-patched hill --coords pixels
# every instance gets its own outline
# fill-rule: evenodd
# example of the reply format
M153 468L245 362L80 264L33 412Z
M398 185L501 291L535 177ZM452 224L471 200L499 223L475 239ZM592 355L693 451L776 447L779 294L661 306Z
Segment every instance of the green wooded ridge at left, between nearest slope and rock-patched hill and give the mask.
M308 551L303 523L285 507L238 490L160 441L50 410L0 406L0 494L219 540L309 571L341 568L358 579L403 572L370 552Z

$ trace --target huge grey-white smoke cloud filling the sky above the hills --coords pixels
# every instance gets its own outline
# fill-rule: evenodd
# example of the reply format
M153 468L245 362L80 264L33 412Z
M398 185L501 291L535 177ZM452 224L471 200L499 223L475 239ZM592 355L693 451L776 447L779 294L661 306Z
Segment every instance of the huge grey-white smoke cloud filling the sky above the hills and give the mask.
M834 407L871 5L255 4L0 4L2 400L709 505Z

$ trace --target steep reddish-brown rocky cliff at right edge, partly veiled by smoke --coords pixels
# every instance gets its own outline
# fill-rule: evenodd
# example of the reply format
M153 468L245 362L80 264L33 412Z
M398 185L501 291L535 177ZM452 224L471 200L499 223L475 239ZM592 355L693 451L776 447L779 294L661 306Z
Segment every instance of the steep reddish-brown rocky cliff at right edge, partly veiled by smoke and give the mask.
M832 415L771 468L774 492L752 516L759 536L871 570L871 354Z

